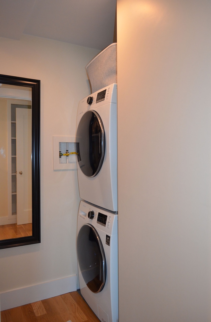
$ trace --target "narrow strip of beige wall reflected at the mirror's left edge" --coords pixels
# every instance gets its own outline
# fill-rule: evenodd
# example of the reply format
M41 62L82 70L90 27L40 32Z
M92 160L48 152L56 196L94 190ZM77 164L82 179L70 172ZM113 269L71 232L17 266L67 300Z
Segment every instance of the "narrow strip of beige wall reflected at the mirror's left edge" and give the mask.
M7 102L0 99L0 217L7 216Z

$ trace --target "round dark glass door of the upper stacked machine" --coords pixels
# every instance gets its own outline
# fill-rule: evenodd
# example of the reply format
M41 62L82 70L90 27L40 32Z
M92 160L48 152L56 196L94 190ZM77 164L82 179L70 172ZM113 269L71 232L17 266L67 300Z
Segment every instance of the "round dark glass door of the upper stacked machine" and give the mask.
M103 122L95 111L87 111L80 119L76 142L81 171L87 177L94 177L100 171L105 155Z

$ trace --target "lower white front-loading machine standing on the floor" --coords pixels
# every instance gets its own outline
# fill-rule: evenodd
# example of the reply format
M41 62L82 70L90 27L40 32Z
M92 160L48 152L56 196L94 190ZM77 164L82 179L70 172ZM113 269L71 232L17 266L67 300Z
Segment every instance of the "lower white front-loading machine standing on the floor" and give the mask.
M80 291L102 322L118 321L117 216L80 202L77 229Z

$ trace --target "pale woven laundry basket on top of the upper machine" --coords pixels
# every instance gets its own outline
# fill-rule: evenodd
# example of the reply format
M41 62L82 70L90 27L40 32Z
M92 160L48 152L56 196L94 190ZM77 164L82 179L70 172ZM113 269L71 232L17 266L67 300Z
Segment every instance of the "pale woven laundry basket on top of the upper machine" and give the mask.
M85 68L92 93L117 83L117 43L106 47Z

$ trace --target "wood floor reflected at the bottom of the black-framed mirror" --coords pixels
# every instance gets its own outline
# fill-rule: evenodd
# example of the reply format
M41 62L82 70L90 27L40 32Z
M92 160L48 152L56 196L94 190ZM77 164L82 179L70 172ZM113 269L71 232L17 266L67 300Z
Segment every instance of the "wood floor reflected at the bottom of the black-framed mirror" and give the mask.
M0 240L25 236L32 236L32 223L26 223L24 225L11 223L0 226Z

